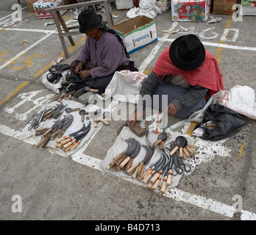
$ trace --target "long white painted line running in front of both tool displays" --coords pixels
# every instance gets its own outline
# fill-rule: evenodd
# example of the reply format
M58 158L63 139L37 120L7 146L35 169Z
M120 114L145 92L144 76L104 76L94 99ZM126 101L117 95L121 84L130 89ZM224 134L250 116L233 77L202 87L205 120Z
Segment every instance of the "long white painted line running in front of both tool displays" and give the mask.
M102 124L102 123L101 123ZM100 129L101 126L99 126ZM99 131L99 129L97 130L97 132ZM0 124L0 133L4 134L8 137L13 137L15 139L18 140L19 135L21 134L21 131L15 131L14 129L10 129L7 126L1 125ZM96 134L96 133L95 133ZM90 140L93 139L93 137L95 136L95 134L93 134L93 136L90 138ZM30 137L26 140L23 140L26 143L29 143L30 145L35 145L35 138L34 137ZM88 156L87 154L83 153L83 151L85 151L85 148L87 146L83 146L82 148L79 149L79 151L71 154L72 159L75 162L78 162L80 164L84 164L87 167L91 167L94 170L99 170L103 173L104 170L101 169L100 164L102 163L101 159L97 159L93 156ZM67 157L67 154L65 153L61 153L59 151L56 151L52 148L46 148L50 153L52 154L59 154L60 156L65 156ZM145 185L143 183L141 183L140 181L135 181L132 178L123 178L127 181L130 181L134 184L138 184L140 186L145 187ZM158 190L159 192L159 190ZM173 189L167 189L166 190L166 194L164 195L166 196L166 198L171 198L174 200L178 200L178 201L182 201L184 203L189 203L193 206L198 206L201 209L207 209L209 211L213 211L217 214L221 214L224 215L226 217L233 217L234 214L234 209L232 206L228 206L224 203L220 203L216 200L210 199L210 198L205 198L202 197L200 195L194 195L191 194L189 192L184 192L180 189L177 188L173 188ZM256 220L256 214L249 212L249 211L241 211L241 220Z

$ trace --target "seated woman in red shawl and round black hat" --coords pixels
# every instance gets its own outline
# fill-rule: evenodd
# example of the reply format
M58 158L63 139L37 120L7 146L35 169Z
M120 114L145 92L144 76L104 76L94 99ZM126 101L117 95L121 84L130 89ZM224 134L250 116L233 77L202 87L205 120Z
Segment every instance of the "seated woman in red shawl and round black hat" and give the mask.
M186 118L202 109L207 98L223 89L218 62L205 50L199 37L178 37L160 54L152 73L143 82L137 111L129 117L127 124L142 120L144 95L150 95L152 106L166 111L169 116ZM154 102L154 95L159 102ZM164 101L166 97L167 101Z

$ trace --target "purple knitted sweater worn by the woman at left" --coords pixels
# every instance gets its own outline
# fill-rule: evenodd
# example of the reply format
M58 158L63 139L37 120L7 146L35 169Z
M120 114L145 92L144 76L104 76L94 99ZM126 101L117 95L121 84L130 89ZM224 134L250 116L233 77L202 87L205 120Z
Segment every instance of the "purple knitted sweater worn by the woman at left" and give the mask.
M85 46L82 48L76 60L87 65L93 79L108 76L116 71L118 66L128 65L124 48L117 37L110 32L102 32L99 40L87 37Z

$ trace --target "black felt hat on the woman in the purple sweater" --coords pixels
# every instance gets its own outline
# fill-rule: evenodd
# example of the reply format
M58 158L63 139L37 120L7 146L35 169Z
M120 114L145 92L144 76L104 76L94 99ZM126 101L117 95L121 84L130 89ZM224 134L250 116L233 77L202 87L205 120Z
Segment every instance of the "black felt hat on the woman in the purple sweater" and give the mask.
M83 10L78 15L79 32L85 34L95 29L102 22L102 15L97 15L93 10Z

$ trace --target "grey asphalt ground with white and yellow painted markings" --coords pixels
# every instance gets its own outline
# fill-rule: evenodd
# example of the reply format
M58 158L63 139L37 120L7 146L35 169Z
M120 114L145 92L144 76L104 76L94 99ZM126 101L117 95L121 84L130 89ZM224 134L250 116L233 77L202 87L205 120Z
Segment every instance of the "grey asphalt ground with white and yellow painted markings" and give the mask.
M200 148L196 153L198 157L191 162L192 172L182 176L178 187L168 189L165 195L159 190L146 189L146 185L138 181L100 169L124 120L110 120L110 126L99 125L96 134L69 156L51 148L35 147L32 137L18 140L31 115L54 95L40 83L40 76L50 68L54 58L63 57L62 63L71 63L82 49L85 35L74 37L76 46L66 40L70 57L65 59L56 26L43 26L52 19L39 20L21 0L22 21L13 24L14 3L0 3L1 220L134 220L141 223L152 220L154 223L154 220L256 219L256 129L255 120L248 117L246 126L226 140L194 139ZM118 16L114 23L127 21L126 12L115 10L113 5L113 14ZM75 24L71 22L74 16L70 11L63 15L68 25ZM190 32L198 35L205 48L215 55L227 90L235 85L247 85L255 90L255 16L243 16L243 21L236 22L230 15L214 16L221 17L222 21L175 23L171 21L171 12L157 15L154 19L157 42L135 51L131 59L139 71L149 74L161 52L175 38ZM177 26L188 31L173 35L163 32ZM28 43L22 45L22 40ZM118 112L127 104L113 106L113 112ZM168 118L173 134L188 133L190 126L187 120ZM239 198L240 203L236 209L234 197ZM22 209L15 212L13 206L18 200L22 202Z

